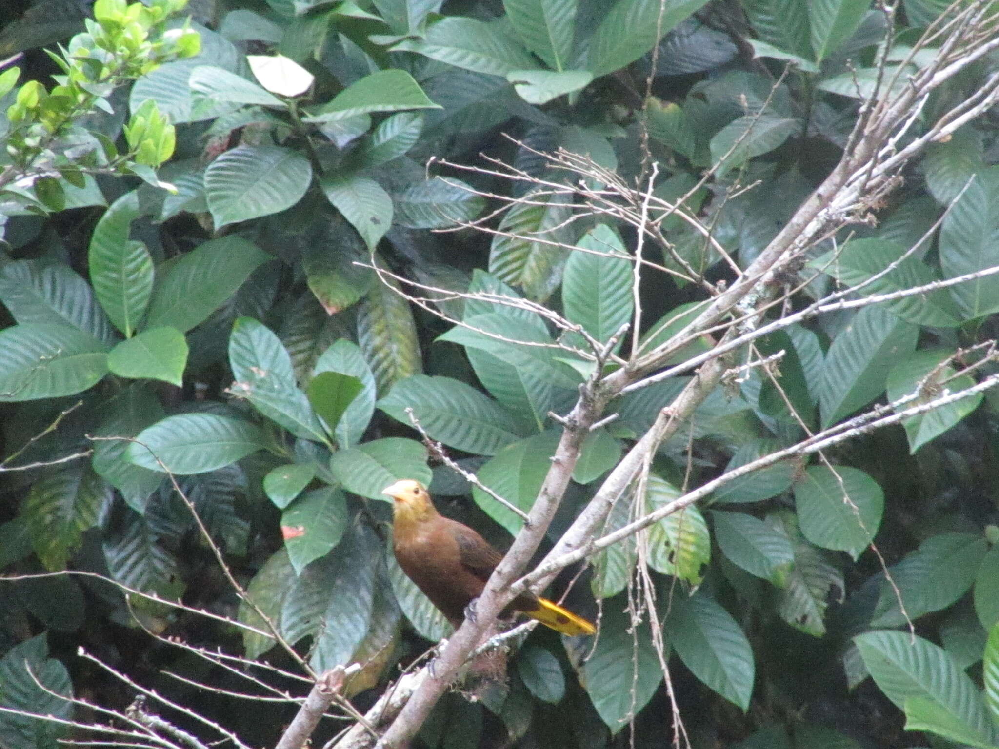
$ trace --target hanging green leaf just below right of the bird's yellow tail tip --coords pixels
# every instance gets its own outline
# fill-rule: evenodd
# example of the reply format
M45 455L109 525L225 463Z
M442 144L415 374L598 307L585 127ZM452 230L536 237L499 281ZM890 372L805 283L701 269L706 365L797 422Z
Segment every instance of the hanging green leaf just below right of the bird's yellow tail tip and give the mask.
M648 625L632 629L623 605L618 598L604 604L600 636L580 674L593 707L613 733L638 714L662 680Z

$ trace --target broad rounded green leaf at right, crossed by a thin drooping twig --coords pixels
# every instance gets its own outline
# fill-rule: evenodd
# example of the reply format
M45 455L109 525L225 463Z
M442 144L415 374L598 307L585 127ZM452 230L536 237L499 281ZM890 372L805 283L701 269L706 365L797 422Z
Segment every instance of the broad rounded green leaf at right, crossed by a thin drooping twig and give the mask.
M805 538L856 559L881 524L884 492L858 468L811 465L794 484L794 502Z

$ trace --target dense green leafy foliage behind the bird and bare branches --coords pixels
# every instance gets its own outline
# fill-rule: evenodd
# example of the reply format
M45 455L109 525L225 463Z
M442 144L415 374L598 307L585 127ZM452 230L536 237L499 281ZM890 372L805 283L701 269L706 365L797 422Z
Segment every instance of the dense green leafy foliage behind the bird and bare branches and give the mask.
M345 694L363 712L451 631L394 561L381 490L420 479L507 546L580 388L630 372L736 283L856 145L865 97L942 54L917 40L946 9L9 5L7 749L93 738L89 705L123 711L137 685L271 745L297 709L281 695L309 689L294 675L337 664L361 664ZM997 71L986 49L891 148ZM995 125L986 108L934 139L766 280L775 302L733 308L654 368L836 289L858 303L724 355L595 535L813 433L850 438L734 473L568 567L552 597L567 591L598 636L533 631L505 679L446 695L421 746L662 746L674 731L705 749L999 746L999 400L982 386L882 429L854 418L997 372ZM611 393L541 552L697 376Z

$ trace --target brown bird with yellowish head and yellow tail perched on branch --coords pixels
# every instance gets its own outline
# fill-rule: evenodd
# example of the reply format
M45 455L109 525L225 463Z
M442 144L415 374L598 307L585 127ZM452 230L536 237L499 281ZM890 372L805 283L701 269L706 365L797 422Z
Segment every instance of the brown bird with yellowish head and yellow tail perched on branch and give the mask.
M502 554L468 525L438 512L420 481L404 478L382 493L393 498L393 545L399 566L457 629ZM503 609L504 614L510 611L520 611L562 634L596 632L581 616L530 592L520 593Z

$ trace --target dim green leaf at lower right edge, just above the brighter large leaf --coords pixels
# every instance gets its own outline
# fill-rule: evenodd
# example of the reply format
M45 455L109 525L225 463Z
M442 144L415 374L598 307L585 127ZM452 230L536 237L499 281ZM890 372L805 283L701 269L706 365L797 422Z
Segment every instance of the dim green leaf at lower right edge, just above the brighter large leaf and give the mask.
M986 543L973 533L939 533L888 568L894 585L883 580L872 627L895 627L951 605L971 587L985 556ZM898 593L895 592L897 588ZM905 613L897 595L905 603Z

